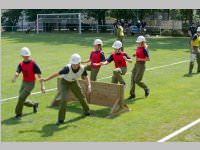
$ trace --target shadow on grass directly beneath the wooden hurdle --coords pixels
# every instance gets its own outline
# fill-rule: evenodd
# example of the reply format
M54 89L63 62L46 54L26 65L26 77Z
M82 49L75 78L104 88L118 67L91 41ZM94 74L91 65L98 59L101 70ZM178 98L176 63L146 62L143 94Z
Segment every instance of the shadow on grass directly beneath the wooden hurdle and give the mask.
M47 106L48 108L51 109L56 109L59 110L59 106ZM98 110L91 110L92 116L91 117L99 117L99 118L105 118L108 116L109 112L110 112L110 108L102 108L102 109L98 109ZM78 114L82 114L83 113L83 109L81 108L80 105L77 104L73 104L70 106L66 106L66 113L67 112L73 112L73 113L78 113Z

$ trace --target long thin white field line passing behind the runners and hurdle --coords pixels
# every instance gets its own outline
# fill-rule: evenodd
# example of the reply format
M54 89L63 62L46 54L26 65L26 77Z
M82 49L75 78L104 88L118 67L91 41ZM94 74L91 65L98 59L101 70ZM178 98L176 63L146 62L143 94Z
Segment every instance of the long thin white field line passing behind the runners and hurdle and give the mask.
M166 68L166 67L170 67L170 66L182 64L182 63L185 63L185 62L188 62L188 60L183 60L183 61L171 63L171 64L168 64L168 65L162 65L162 66L158 66L158 67L147 68L146 71L151 71L151 70ZM126 75L127 75L127 74L130 74L130 73L131 73L131 72L128 72L128 73L126 73ZM97 81L104 80L104 79L109 79L109 78L111 78L111 77L112 77L112 76L100 78L100 79L97 79ZM48 89L48 90L46 90L46 92L51 92L51 91L55 91L55 90L57 90L57 88ZM39 92L31 93L31 95L36 95L36 94L41 94L41 92L39 91ZM18 96L9 97L9 98L4 98L4 99L1 99L1 100L0 100L0 103L5 102L5 101L8 101L8 100L11 100L11 99L16 99L16 98L18 98Z

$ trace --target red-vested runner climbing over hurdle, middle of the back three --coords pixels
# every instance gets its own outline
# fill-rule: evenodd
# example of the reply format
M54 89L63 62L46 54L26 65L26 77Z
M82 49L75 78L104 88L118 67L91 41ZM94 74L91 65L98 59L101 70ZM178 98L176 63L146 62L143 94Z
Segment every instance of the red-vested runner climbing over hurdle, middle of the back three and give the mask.
M127 63L132 63L132 59L125 53L122 52L122 43L120 41L115 41L112 48L114 48L114 53L112 53L105 62L100 62L95 65L107 65L114 61L115 69L113 70L112 83L120 83L126 87L126 83L122 78L127 72Z

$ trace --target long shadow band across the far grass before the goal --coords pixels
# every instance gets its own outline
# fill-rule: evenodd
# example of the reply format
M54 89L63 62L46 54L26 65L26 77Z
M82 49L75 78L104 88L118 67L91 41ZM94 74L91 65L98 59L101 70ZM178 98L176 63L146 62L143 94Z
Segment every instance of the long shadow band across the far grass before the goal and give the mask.
M80 46L91 46L95 38L101 38L105 41L104 46L110 47L113 41L115 41L114 35L106 33L102 34L90 34L84 33L81 36L77 33L41 33L37 34L19 34L15 33L14 36L11 33L3 33L3 39L16 41L17 43L48 43L49 45L60 45L60 44L76 44ZM55 38L56 37L56 38ZM126 37L126 47L133 46L133 37ZM170 50L177 51L188 47L189 38L186 37L165 37L165 38L149 38L148 39L151 47L151 51ZM180 44L183 43L183 44Z

